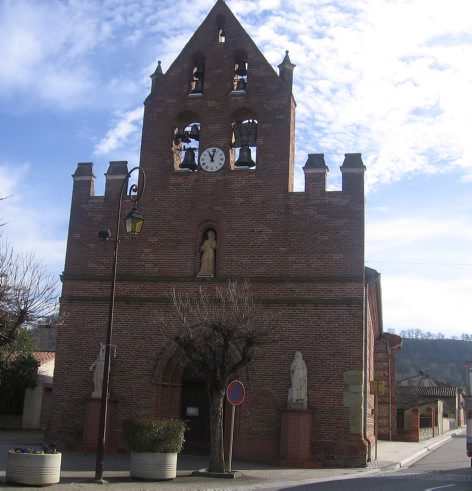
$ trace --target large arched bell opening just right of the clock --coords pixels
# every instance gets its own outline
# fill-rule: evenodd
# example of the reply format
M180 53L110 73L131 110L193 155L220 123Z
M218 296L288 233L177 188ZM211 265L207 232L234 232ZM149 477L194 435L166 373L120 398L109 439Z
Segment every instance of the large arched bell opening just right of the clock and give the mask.
M232 125L230 163L233 169L255 169L257 162L257 120L237 120Z

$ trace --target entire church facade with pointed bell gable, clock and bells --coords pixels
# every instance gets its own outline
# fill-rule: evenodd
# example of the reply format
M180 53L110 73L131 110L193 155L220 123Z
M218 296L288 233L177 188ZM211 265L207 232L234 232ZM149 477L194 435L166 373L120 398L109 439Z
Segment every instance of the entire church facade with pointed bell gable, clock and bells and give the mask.
M204 381L158 315L171 308L173 287L193 294L248 279L261 313L276 314L280 341L240 374L247 394L233 455L303 466L362 466L371 457L370 387L387 350L374 356L384 335L380 289L371 287L379 277L364 264L365 167L360 154L346 154L342 189L327 191L324 157L310 154L305 190L294 192L295 65L281 58L276 73L218 0L174 63L152 76L139 164L145 224L137 239L123 231L120 241L110 446L119 446L124 419L147 415L188 419L190 448L207 449ZM94 193L91 163L73 176L49 429L71 445L96 441L91 368L106 339L113 261L112 241L97 231L114 233L128 170L110 162L104 196ZM124 213L131 208L125 199ZM307 383L305 405L293 409L297 352Z

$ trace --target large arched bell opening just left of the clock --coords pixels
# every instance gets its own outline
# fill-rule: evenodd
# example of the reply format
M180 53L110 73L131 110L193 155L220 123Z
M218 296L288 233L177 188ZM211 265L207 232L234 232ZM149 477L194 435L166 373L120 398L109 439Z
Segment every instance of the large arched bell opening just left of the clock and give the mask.
M178 124L174 128L172 153L175 170L195 172L198 169L200 127L200 122L193 120L187 124Z

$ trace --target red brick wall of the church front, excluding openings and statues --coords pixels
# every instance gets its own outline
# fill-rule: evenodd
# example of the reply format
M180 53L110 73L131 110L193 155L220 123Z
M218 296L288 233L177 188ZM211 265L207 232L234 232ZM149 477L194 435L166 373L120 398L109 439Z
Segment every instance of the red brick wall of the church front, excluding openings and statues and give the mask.
M278 457L289 367L300 350L313 412L312 457L362 465L365 442L360 433L350 433L343 374L362 370L364 364L363 168L343 176L343 191L317 196L289 192L295 107L291 87L228 12L218 2L145 103L141 166L147 180L140 202L145 225L136 240L122 238L118 262L117 354L110 382L118 420L137 414L179 415L183 367L169 369L172 375L163 380L163 366L156 361L169 343L158 313L169 308L171 287L195 292L228 278L249 278L261 315L266 310L278 314L274 330L281 341L254 357L244 380L248 397L237 412L235 456ZM216 43L215 34L221 15L226 18L224 45ZM230 93L230 81L232 57L239 48L248 55L249 82L246 94L236 96ZM205 55L205 93L189 97L189 66L197 52ZM214 174L174 170L176 125L198 120L200 148L216 145L228 155L231 123L241 115L258 121L256 170L234 171L228 165ZM63 275L67 317L58 332L51 429L51 436L64 440L80 438L92 391L89 367L105 339L113 244L98 241L97 231L110 228L114 233L117 189L107 186L104 197L91 196L90 182L74 182ZM129 208L125 200L123 213ZM205 281L196 274L202 234L210 226L218 238L216 278Z

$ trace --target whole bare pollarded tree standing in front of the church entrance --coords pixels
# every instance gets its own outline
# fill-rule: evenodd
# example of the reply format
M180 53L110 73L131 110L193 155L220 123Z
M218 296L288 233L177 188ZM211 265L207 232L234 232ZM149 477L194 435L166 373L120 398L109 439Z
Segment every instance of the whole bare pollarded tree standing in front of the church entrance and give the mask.
M248 281L229 281L198 295L171 294L177 323L170 332L203 377L210 402L210 472L225 472L223 408L226 387L246 367L257 348L275 341L270 318L258 311ZM172 328L171 328L172 329Z

